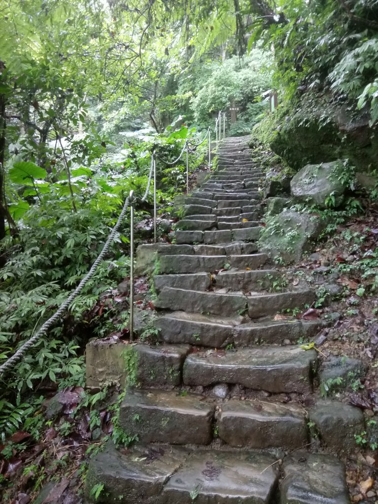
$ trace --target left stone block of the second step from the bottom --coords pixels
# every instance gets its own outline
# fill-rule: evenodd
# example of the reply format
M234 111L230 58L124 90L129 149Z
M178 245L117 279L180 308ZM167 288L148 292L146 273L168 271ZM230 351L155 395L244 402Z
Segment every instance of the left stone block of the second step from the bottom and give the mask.
M129 390L119 408L119 426L142 443L208 445L215 405L201 399L174 391Z

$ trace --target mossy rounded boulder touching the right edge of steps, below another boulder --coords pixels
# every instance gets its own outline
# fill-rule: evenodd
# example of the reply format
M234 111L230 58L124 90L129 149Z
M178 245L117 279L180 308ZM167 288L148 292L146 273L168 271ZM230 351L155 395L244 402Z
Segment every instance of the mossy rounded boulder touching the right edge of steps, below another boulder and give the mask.
M267 219L262 228L260 250L286 263L300 261L322 230L320 218L291 210Z

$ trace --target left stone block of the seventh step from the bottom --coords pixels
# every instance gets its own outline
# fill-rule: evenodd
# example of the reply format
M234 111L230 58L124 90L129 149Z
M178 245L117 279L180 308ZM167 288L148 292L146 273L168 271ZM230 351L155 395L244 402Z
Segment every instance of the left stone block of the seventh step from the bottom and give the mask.
M177 234L176 234L177 235ZM226 256L160 256L159 273L199 273L224 268Z

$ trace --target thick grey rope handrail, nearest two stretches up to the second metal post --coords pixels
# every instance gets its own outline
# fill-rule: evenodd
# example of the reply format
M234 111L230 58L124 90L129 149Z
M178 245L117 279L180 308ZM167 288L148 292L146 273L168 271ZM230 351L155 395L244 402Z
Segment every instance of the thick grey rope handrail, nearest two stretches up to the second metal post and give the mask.
M150 190L150 185L151 185L151 178L152 178L152 173L153 173L153 168L154 168L154 157L151 156L151 167L150 167L150 173L147 181L147 188L146 192L142 198L142 201L146 201L149 190ZM133 199L132 195L131 198ZM84 289L86 284L89 282L89 280L93 277L95 274L98 265L100 262L103 260L105 254L109 250L110 244L113 241L114 236L118 232L118 229L123 221L123 218L128 210L129 204L131 202L130 196L128 196L123 204L123 208L121 213L119 214L119 217L117 219L117 222L115 223L113 229L111 230L107 240L104 243L104 246L102 247L102 250L100 254L98 255L97 259L95 262L92 264L91 269L89 272L85 275L85 277L80 281L79 285L76 287L76 289L71 292L69 297L64 301L60 307L55 311L55 313L46 320L42 324L42 326L38 329L38 331L32 336L28 341L26 341L23 345L21 345L20 348L10 357L7 359L2 365L0 365L0 376L2 376L7 370L13 366L16 362L18 362L24 355L25 353L31 348L37 341L47 333L47 331L51 328L51 326L60 318L60 316L65 313L65 311L70 307L71 303L77 298L77 296L81 293L81 291Z

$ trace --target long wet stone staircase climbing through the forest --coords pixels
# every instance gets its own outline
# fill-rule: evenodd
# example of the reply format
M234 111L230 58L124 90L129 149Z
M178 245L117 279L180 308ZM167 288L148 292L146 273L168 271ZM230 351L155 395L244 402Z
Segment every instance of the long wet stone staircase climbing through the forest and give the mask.
M275 317L315 295L271 289L280 272L256 244L262 176L248 137L225 139L218 169L186 198L177 244L159 246L159 345L133 347L140 386L127 390L119 412L119 427L138 443L108 445L91 459L88 500L103 484L96 502L349 502L343 463L313 453L342 452L343 441L321 445L308 422L320 439L334 427L350 440L361 418L343 424L334 402L319 403L323 416L304 407L316 397L318 355L295 343L323 322ZM105 379L110 372L124 380L122 346L112 345L115 359L98 358ZM100 355L101 343L96 349Z

